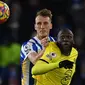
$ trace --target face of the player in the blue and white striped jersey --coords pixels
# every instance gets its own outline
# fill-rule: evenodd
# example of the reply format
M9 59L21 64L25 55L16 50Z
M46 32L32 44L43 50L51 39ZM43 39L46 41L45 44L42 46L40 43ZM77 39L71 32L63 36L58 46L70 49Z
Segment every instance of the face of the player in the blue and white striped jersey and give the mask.
M50 29L52 29L51 20L47 16L37 16L35 19L35 30L37 36L42 39L49 35Z

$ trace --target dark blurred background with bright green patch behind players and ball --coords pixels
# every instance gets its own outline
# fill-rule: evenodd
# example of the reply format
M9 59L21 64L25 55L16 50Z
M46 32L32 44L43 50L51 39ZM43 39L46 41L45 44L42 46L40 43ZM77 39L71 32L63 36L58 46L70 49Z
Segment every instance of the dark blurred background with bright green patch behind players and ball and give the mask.
M85 85L85 0L2 1L10 7L11 15L0 24L0 85L20 85L20 47L35 35L35 15L42 8L53 14L51 36L64 27L73 31L79 56L71 85Z

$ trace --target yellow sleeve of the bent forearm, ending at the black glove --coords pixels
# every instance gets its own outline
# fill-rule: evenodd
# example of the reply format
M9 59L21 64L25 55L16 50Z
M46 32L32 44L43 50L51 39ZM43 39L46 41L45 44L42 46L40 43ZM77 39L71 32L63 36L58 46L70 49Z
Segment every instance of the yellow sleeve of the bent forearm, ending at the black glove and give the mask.
M41 60L38 60L36 64L32 67L32 75L40 75L44 74L48 71L51 71L57 67L59 67L59 62L56 63L47 63Z

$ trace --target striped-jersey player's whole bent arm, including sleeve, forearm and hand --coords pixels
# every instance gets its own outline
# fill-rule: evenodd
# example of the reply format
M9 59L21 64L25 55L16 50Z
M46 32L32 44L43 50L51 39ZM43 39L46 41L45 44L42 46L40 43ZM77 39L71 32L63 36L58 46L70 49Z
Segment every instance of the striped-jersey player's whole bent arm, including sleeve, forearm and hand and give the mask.
M45 47L48 45L47 37L41 40L42 45ZM33 42L24 43L21 47L21 61L28 58L33 64L43 55L45 48L43 48L39 53L37 52L38 48Z

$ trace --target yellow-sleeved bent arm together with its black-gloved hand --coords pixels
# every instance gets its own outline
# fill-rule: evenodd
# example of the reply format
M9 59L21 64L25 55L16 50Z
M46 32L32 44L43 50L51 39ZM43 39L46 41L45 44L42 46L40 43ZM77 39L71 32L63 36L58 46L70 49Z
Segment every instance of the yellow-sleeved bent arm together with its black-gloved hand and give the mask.
M40 75L47 73L55 68L72 69L74 62L69 60L58 61L55 63L48 63L47 61L40 59L32 68L33 75Z

